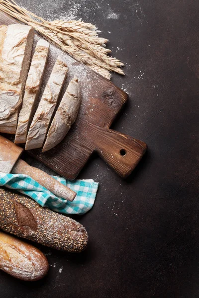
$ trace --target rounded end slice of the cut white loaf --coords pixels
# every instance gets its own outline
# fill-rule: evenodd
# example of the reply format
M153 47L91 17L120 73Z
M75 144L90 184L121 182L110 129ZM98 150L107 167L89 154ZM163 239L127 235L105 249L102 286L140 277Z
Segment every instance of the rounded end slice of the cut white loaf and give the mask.
M55 117L51 123L43 152L52 149L67 135L75 122L81 103L80 85L77 77L74 77L62 98Z

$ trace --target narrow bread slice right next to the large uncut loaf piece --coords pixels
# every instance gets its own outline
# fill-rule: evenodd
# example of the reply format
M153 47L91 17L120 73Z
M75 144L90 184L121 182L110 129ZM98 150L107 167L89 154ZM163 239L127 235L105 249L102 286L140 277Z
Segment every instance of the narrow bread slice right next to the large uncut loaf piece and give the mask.
M42 83L44 70L49 53L49 43L44 39L37 42L34 56L28 72L25 84L25 94L23 97L22 107L19 113L19 119L16 129L14 143L20 144L26 142L29 124L32 119L34 104L37 101L39 90Z

